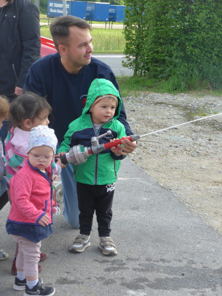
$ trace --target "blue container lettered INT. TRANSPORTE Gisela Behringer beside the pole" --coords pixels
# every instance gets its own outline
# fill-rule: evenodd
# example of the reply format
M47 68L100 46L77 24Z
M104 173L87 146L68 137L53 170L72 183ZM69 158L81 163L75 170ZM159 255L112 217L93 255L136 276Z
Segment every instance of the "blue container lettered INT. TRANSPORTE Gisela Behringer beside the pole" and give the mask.
M47 1L47 17L60 17L63 15L63 5L61 0ZM71 1L66 0L66 13L71 15Z

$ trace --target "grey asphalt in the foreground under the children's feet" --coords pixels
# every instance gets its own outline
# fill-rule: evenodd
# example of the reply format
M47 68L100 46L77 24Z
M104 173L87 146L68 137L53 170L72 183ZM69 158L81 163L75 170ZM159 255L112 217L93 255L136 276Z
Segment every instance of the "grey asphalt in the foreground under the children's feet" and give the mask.
M62 202L60 202L62 208ZM10 274L15 243L5 231L9 205L1 210L0 295L12 290ZM111 236L118 254L102 255L94 218L91 246L68 251L77 229L62 214L54 217L54 233L42 241L48 254L39 276L59 296L221 296L222 238L167 189L130 159L122 161L113 202Z

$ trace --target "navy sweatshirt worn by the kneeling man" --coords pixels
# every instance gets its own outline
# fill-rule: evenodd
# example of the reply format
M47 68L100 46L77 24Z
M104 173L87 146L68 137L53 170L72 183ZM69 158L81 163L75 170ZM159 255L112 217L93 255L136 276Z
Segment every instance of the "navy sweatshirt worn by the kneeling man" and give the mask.
M110 80L119 91L111 68L93 57L90 64L83 66L78 74L65 70L58 53L43 57L30 67L23 89L46 96L53 110L50 127L55 130L59 143L62 143L69 124L82 114L89 86L95 78ZM131 135L123 104L118 120L125 126L126 134Z

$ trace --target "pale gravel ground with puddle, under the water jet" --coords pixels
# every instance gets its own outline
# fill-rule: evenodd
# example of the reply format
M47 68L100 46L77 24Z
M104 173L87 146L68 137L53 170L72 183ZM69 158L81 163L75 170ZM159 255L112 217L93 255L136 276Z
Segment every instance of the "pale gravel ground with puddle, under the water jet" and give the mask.
M222 96L139 93L123 98L140 136L222 112ZM197 115L198 114L198 115ZM197 116L195 116L197 115ZM129 157L222 233L222 115L141 137Z

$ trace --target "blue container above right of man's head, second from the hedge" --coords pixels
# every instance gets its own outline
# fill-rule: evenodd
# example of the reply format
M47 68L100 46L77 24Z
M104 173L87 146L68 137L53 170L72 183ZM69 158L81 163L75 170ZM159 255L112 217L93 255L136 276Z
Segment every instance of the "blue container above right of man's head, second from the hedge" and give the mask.
M109 21L109 3L87 2L86 20L97 22Z

